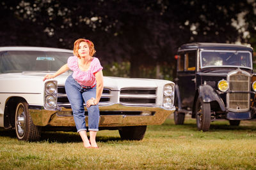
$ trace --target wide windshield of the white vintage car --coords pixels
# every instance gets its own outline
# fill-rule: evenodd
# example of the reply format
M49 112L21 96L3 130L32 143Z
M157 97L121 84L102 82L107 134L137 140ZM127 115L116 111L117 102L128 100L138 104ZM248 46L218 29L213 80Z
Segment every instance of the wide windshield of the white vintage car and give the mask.
M0 52L0 73L23 71L57 71L67 63L68 52L5 51Z

